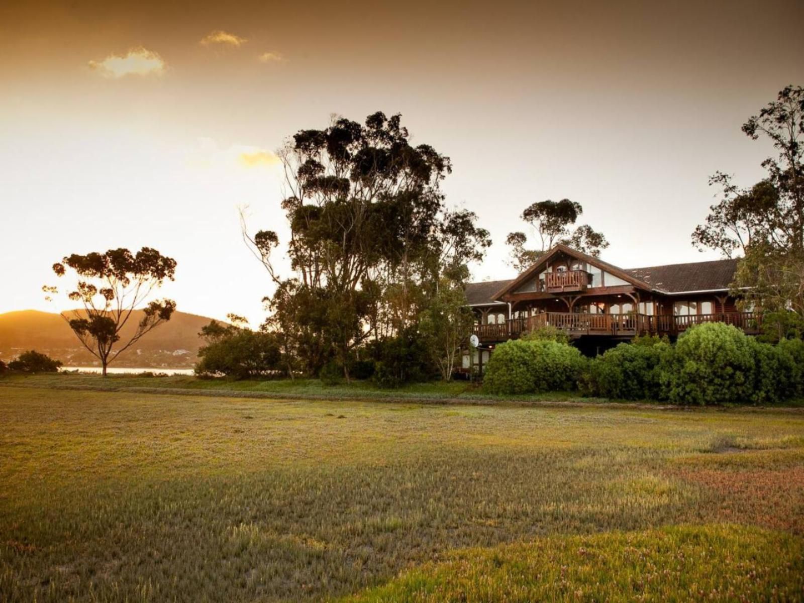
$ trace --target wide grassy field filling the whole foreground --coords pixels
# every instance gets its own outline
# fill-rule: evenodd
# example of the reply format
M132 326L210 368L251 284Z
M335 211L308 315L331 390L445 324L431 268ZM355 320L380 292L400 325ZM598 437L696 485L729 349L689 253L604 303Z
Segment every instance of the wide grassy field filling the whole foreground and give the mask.
M0 601L804 600L798 410L47 379L0 380Z

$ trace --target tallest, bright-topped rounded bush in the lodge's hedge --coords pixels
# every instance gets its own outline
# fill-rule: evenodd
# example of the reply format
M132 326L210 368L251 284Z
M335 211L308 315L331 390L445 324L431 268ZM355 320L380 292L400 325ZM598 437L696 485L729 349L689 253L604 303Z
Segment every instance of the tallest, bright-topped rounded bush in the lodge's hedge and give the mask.
M752 400L755 348L736 326L692 326L662 362L662 385L675 404L723 404Z

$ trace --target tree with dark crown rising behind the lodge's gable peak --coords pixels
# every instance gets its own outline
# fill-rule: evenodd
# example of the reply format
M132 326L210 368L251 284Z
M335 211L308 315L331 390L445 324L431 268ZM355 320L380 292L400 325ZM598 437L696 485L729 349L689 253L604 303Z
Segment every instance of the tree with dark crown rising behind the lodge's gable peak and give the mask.
M571 228L583 212L580 203L569 199L531 203L522 212L521 218L539 236L539 248L527 249L527 235L524 232L511 232L506 239L506 244L511 247L511 265L517 272L523 272L558 243L599 256L602 249L609 247L605 236L589 224Z

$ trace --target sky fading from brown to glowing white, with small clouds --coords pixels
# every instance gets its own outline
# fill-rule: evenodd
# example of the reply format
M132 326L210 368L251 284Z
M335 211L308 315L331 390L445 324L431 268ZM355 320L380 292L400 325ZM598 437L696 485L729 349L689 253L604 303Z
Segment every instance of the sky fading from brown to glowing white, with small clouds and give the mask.
M572 199L624 268L715 259L690 234L716 170L773 150L740 125L804 84L804 2L0 2L0 312L47 302L73 252L178 262L178 310L258 324L240 236L286 233L274 152L332 114L401 113L453 162L450 207L493 245ZM286 239L286 237L285 237Z

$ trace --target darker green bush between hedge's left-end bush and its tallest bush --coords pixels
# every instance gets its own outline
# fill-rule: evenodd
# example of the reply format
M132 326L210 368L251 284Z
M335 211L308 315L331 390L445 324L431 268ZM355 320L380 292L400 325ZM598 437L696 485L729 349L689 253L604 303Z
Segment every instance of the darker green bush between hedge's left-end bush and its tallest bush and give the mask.
M589 363L588 393L622 400L658 400L662 396L662 360L672 347L659 338L621 343Z

